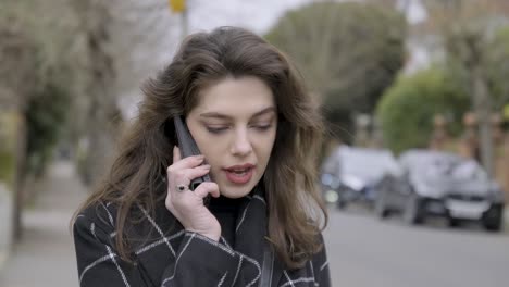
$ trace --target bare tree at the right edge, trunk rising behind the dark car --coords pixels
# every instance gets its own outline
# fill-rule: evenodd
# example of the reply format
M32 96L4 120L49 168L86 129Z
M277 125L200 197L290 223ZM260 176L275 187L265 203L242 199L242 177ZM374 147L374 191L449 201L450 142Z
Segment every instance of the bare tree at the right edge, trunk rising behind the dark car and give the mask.
M493 97L487 87L486 60L495 30L507 24L509 1L427 0L424 4L430 11L425 29L442 36L448 60L460 66L465 85L470 85L479 124L481 162L493 176Z

